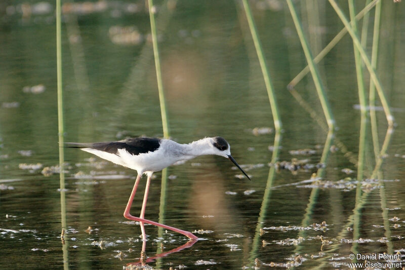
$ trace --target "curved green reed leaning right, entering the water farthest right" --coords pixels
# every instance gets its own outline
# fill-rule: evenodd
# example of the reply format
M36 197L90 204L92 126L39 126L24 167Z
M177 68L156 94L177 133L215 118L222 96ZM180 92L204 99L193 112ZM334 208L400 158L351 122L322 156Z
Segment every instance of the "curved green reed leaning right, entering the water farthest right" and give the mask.
M378 80L378 76L376 74L375 68L373 68L373 66L371 65L369 57L367 56L365 50L361 47L360 41L358 40L358 37L357 37L356 33L354 32L353 28L350 26L349 21L347 20L346 16L343 14L343 11L340 9L340 7L336 3L336 1L335 0L329 0L329 3L334 8L334 10L338 14L340 20L345 25L347 31L349 32L349 34L350 34L350 36L351 36L351 38L353 40L353 43L355 44L357 50L360 52L361 58L363 59L364 63L366 64L367 69L369 70L370 78L373 80L373 82L374 82L374 84L376 86L377 93L378 93L378 95L380 97L381 104L383 105L383 108L384 108L384 112L385 112L385 116L387 118L388 125L393 126L394 117L391 114L391 110L389 108L387 99L385 97L383 87L380 84L380 81Z

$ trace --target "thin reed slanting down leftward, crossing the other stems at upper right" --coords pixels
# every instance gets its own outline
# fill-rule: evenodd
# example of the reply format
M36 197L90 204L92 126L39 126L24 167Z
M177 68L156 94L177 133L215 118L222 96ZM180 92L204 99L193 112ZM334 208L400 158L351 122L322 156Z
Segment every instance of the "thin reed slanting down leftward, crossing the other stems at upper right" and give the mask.
M360 20L363 16L365 16L370 9L375 5L375 2L373 1L369 5L367 5L364 9L362 9L356 16L356 20ZM323 48L322 51L313 59L314 63L317 64L319 63L320 60L323 59L334 47L336 44L339 43L339 41L342 39L343 36L347 33L347 29L343 27L342 30L332 39L332 41L325 47ZM309 66L306 66L303 70L301 70L300 73L295 76L295 78L288 84L288 88L291 89L294 86L296 86L308 72L310 71Z

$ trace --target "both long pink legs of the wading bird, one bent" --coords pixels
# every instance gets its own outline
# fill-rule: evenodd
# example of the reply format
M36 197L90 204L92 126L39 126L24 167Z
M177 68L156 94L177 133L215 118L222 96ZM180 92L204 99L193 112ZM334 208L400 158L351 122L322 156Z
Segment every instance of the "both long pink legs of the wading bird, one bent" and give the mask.
M135 184L134 184L134 188L132 189L130 199L128 200L127 207L125 208L125 211L124 211L124 217L127 218L127 219L130 219L130 220L138 221L138 222L140 222L141 224L142 224L142 223L148 223L148 224L155 225L155 226L158 226L158 227L162 227L162 228L165 228L165 229L170 229L170 230L173 230L173 232L182 234L182 235L184 235L184 236L186 236L186 237L188 237L188 238L190 238L190 239L198 240L198 237L196 237L195 235L191 234L190 232L187 232L186 230L182 230L182 229L178 229L178 228L175 228L175 227L171 227L171 226L168 226L168 225L165 225L165 224L157 223L157 222L154 222L154 221L152 221L152 220L144 219L143 217L142 217L142 218L140 218L140 217L134 217L133 215L130 214L130 209L131 209L132 201L134 200L135 193L136 193L136 189L138 188L138 184L139 184L139 180L141 179L141 176L142 176L142 175L138 175L138 176L136 177L136 181L135 181ZM148 177L148 178L149 178L149 177ZM149 180L150 180L150 179L148 179L148 181L149 181ZM147 190L149 190L149 184L148 184L148 183L147 183ZM145 190L145 196L147 197L146 190ZM146 197L144 197L144 204L142 205L143 214L145 214L145 209L144 209L144 208L146 207L146 200L145 200ZM141 212L141 215L142 215L142 212ZM142 225L143 225L143 224L142 224ZM142 230L142 225L141 225L141 230ZM143 233L143 234L144 234L144 233ZM144 236L143 234L142 234L142 237Z

